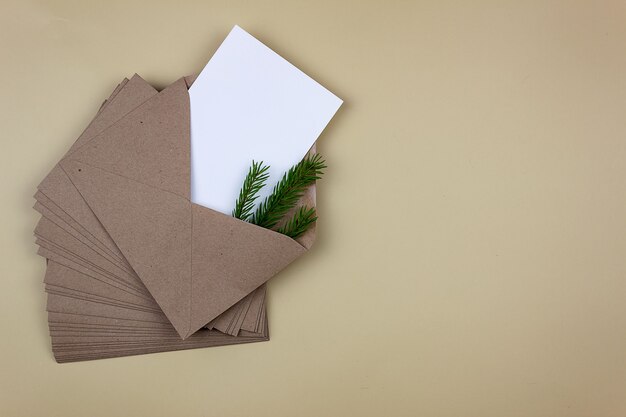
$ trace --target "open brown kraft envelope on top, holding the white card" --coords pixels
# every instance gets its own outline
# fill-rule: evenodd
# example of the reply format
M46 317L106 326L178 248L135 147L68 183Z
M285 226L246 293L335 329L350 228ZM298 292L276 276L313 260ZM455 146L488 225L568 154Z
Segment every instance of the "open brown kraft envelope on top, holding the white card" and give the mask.
M314 237L299 243L190 202L187 88L181 78L152 95L60 163L183 339L302 255Z

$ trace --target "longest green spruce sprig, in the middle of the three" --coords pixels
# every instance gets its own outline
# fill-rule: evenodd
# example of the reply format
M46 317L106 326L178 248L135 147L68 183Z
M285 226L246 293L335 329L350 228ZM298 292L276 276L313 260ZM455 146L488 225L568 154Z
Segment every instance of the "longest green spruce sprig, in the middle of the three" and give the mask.
M305 157L287 171L272 194L259 204L250 222L271 229L298 203L307 187L320 179L326 168L319 154Z

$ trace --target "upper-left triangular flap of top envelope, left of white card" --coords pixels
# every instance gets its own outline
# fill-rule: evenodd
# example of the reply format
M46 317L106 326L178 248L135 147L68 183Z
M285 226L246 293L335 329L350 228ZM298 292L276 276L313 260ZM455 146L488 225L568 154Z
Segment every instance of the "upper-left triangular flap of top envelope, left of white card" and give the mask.
M189 199L189 93L183 78L69 158Z

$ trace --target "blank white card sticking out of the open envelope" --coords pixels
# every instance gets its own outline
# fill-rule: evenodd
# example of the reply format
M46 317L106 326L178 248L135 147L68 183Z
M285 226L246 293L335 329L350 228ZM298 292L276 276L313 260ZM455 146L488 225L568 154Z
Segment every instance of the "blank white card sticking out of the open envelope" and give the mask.
M231 214L253 160L257 204L317 140L342 101L235 26L189 89L191 201Z

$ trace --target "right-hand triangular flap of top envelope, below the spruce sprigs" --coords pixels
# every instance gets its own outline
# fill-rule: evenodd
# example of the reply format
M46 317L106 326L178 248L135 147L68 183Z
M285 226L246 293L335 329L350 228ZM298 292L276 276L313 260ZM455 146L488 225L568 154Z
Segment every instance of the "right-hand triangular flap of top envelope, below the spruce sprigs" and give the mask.
M190 334L306 251L287 236L197 204L192 224Z

